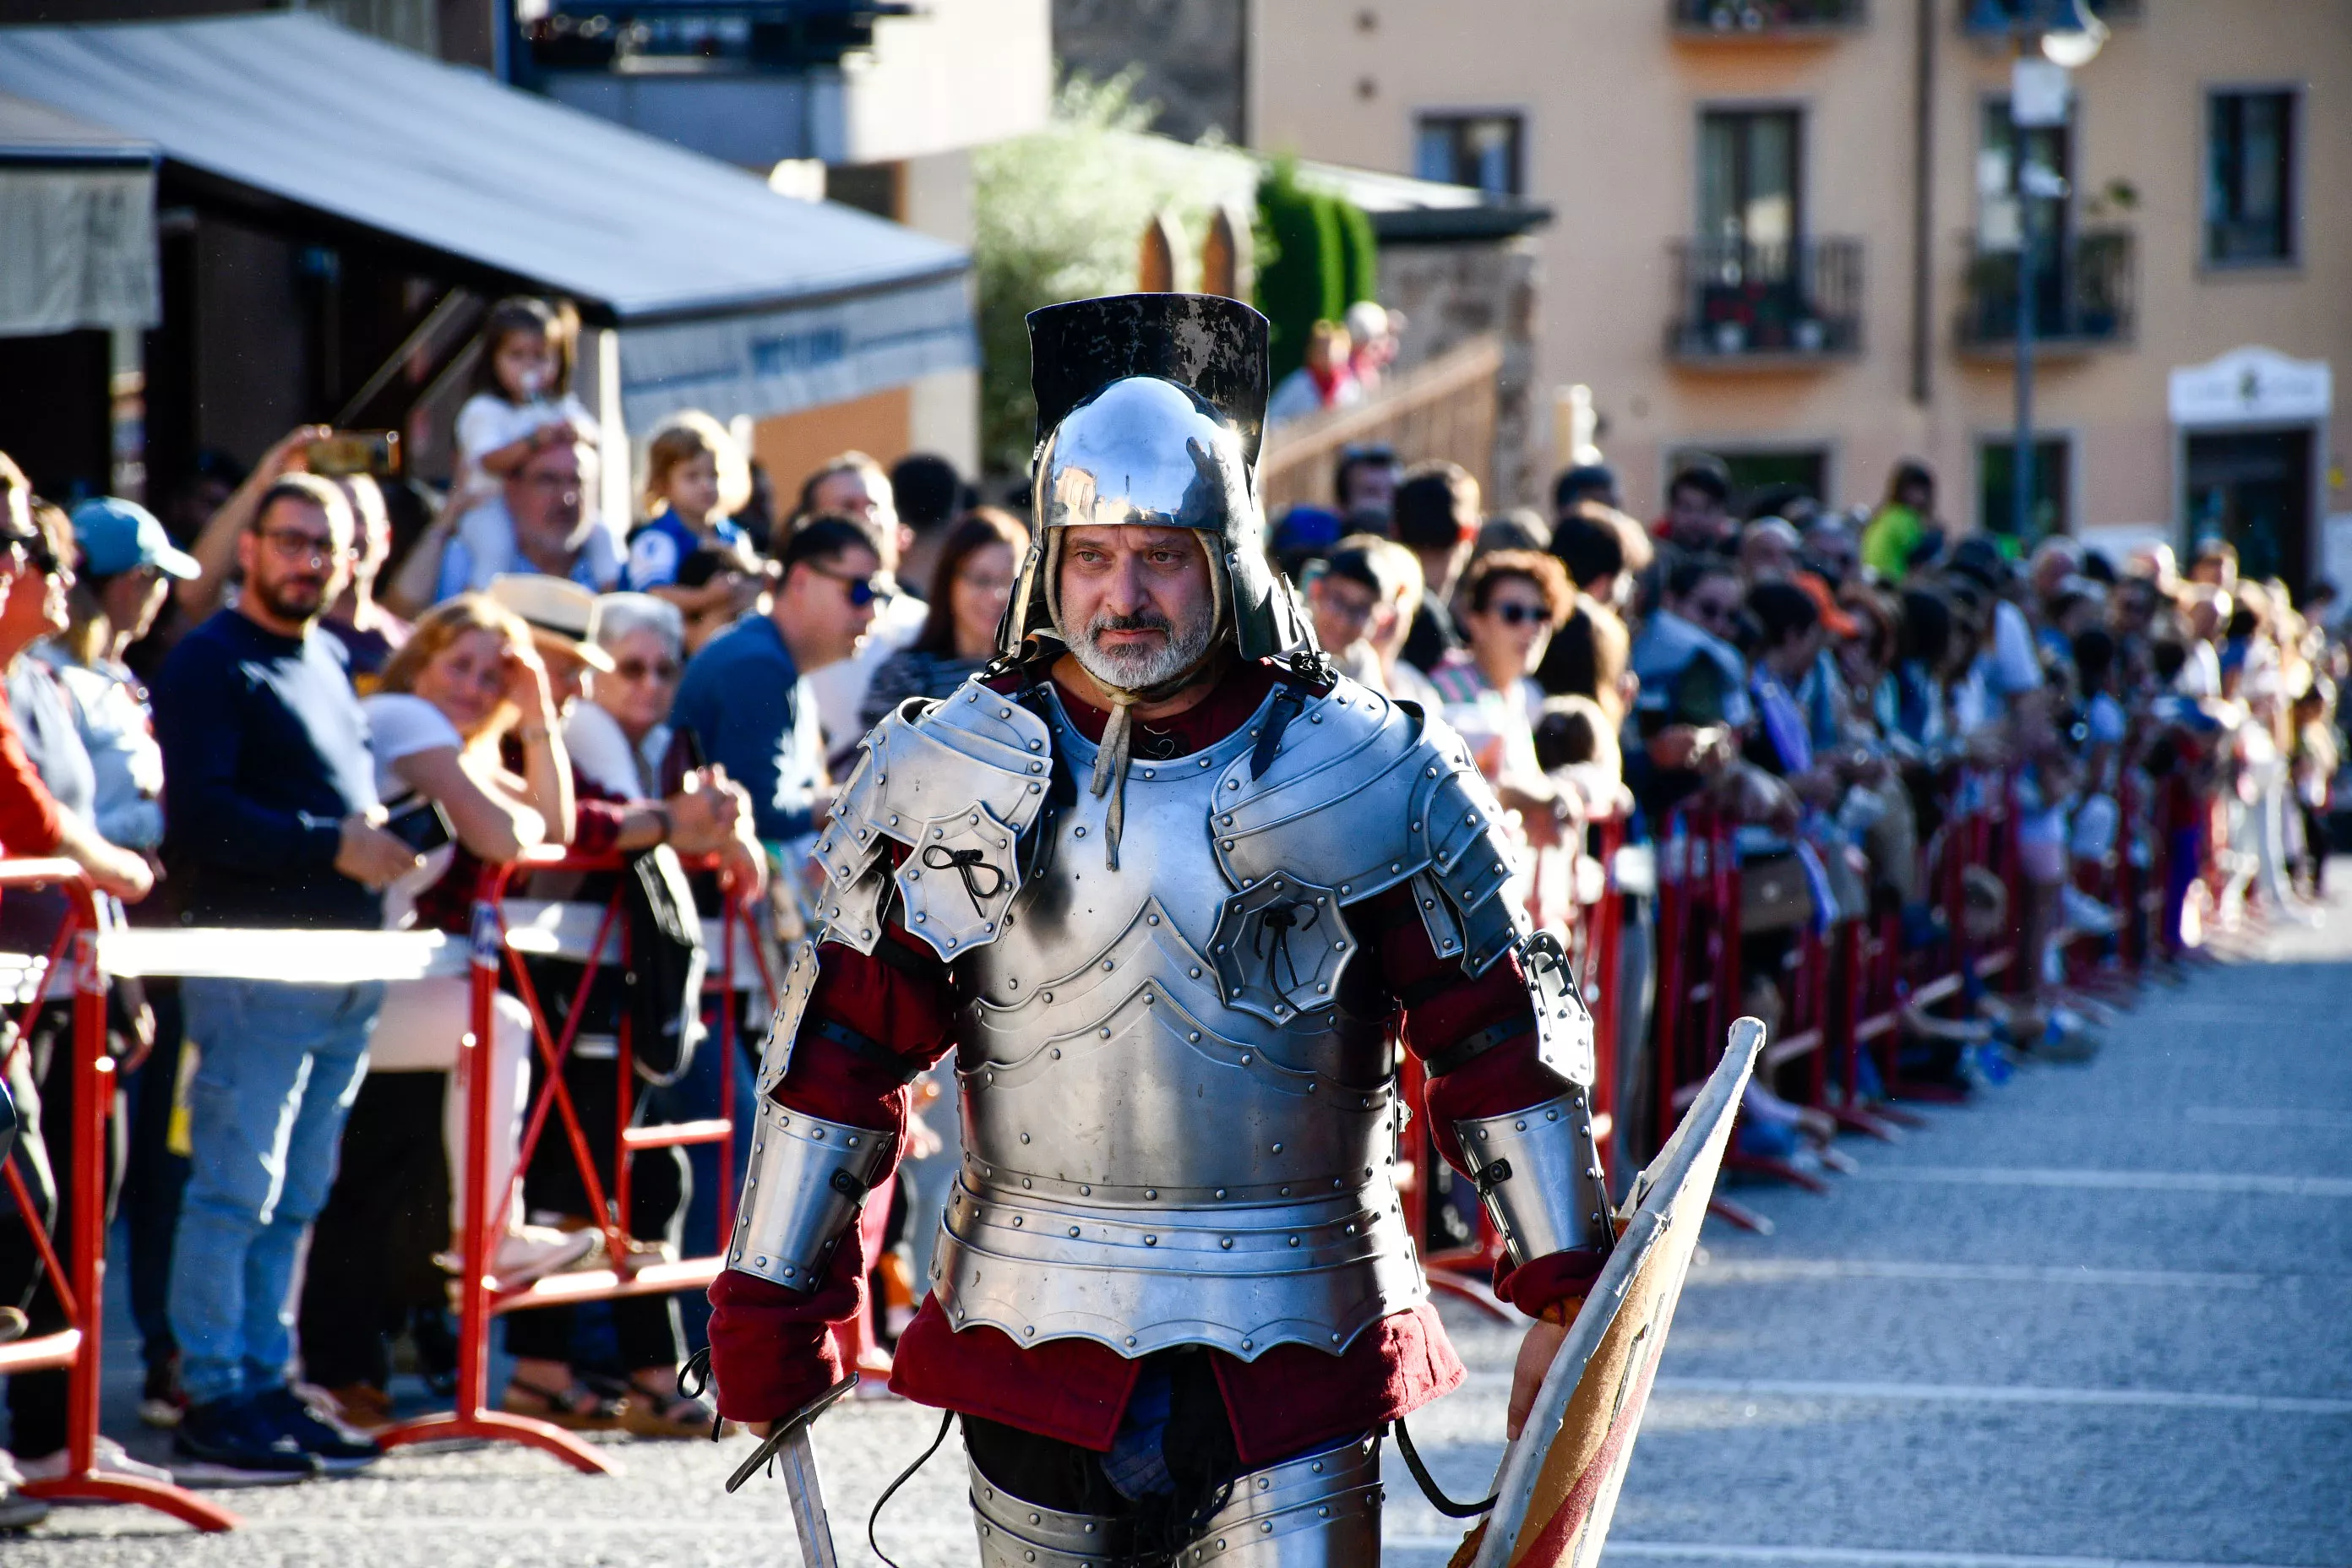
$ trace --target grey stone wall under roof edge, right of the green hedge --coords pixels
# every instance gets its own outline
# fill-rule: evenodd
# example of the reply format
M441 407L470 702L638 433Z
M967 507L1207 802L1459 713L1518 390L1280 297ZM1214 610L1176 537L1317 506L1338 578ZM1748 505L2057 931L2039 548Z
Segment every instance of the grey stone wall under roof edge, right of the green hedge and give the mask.
M1536 388L1536 320L1543 263L1534 240L1456 240L1381 247L1381 303L1406 315L1397 369L1491 331L1503 339L1496 388L1494 494L1486 510L1543 505L1536 473L1548 397Z

